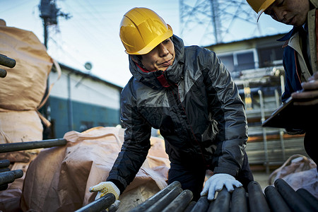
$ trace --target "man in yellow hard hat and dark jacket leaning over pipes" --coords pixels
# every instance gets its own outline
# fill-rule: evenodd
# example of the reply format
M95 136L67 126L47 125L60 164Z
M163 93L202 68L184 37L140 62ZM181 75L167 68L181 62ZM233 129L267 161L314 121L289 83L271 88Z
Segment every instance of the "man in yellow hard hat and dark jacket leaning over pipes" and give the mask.
M90 191L117 197L124 192L151 148L152 127L165 139L171 162L168 184L180 182L194 201L200 195L214 199L223 186L228 191L246 187L253 176L245 153L244 104L216 54L185 47L148 8L124 14L119 36L132 73L122 90L124 144L106 181ZM204 186L206 170L214 175Z

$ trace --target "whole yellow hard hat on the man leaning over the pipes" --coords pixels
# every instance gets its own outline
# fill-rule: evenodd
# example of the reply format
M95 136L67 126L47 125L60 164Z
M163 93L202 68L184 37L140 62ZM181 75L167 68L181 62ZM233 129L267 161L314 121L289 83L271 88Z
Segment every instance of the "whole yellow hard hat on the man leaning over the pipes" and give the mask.
M172 35L170 25L148 8L132 8L120 23L119 37L127 54L147 54Z

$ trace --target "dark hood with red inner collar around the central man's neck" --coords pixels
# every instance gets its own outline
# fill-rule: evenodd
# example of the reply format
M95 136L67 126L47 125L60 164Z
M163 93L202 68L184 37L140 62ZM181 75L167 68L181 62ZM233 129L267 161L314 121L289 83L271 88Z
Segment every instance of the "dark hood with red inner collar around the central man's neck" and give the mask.
M165 71L143 70L129 56L129 69L134 78L154 89L163 89L179 83L184 64L184 43L176 35L172 36L172 42L175 45L175 61Z

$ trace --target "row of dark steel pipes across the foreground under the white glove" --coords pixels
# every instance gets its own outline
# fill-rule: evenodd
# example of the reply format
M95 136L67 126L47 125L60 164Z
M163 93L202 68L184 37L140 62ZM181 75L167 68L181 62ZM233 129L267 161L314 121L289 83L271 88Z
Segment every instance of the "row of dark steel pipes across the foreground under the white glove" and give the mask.
M240 187L230 193L223 187L213 201L207 196L192 201L192 192L183 191L179 182L173 182L130 212L318 211L318 200L307 190L298 189L296 192L283 179L276 179L274 184L275 187L268 186L264 192L256 181L249 182L247 191Z

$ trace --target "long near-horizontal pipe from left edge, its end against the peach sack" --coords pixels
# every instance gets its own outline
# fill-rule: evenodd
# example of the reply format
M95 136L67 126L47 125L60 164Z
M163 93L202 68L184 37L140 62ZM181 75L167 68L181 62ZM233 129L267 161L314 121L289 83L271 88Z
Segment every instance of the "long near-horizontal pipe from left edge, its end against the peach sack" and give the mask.
M0 143L0 153L8 153L13 151L24 151L35 148L49 148L53 146L64 146L66 139L50 139L43 141L28 141L18 143Z

